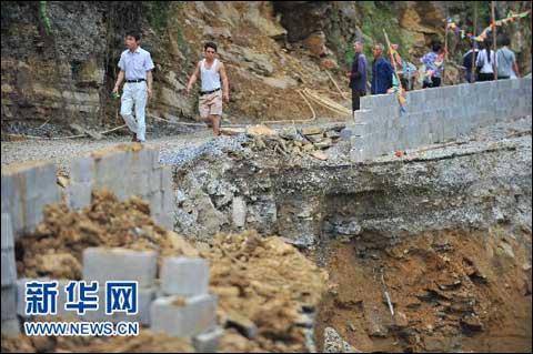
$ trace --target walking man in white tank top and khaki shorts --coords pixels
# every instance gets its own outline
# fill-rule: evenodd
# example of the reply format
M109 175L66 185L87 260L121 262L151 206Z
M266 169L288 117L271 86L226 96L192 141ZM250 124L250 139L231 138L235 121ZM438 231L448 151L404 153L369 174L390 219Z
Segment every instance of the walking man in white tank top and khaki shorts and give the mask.
M201 75L202 89L200 90L200 117L213 127L214 136L220 135L220 120L222 117L222 97L225 103L230 102L230 91L225 68L217 57L217 44L207 42L203 45L205 59L198 62L194 72L187 84L187 93ZM222 85L221 85L222 81ZM223 91L221 91L221 89Z

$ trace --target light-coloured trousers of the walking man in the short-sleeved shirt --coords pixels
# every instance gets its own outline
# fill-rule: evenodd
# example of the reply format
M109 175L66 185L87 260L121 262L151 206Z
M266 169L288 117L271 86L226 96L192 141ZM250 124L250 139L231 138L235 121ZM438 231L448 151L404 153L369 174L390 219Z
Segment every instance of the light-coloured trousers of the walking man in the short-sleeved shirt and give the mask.
M127 82L122 92L120 104L120 114L128 124L128 128L137 133L137 139L145 140L147 125L144 123L144 109L147 108L148 85L147 81ZM135 117L132 114L133 104L135 105Z

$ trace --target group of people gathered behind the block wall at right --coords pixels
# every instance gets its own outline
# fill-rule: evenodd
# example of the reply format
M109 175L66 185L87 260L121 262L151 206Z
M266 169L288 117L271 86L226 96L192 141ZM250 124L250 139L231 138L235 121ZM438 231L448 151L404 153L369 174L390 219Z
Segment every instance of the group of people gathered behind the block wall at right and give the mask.
M515 79L520 75L516 55L509 48L511 40L509 37L501 37L500 49L494 54L491 50L490 41L484 42L482 50L475 49L472 44L463 55L462 69L465 73L467 82L489 81L494 80L494 72L497 79ZM441 85L442 75L444 72L444 50L438 42L432 43L432 50L420 59L423 68L422 88L438 88ZM352 90L352 111L360 109L361 97L366 94L366 58L363 54L363 45L361 41L353 43L354 57L352 62L352 70L346 73L350 78L350 89ZM393 87L394 69L392 64L382 57L383 45L374 44L372 54L374 60L372 62L372 80L371 94L388 93ZM472 65L472 61L474 64ZM474 67L474 72L472 72ZM409 62L403 62L402 87L412 90L413 79L421 75L415 67ZM414 70L413 70L414 69Z

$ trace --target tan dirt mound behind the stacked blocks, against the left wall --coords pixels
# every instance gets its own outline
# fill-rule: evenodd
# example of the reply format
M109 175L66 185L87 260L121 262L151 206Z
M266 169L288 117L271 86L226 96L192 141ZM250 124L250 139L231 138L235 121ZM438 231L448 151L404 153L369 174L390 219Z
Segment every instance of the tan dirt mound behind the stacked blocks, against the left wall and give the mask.
M137 196L120 202L109 191L100 190L79 212L64 204L46 208L36 233L18 241L18 274L81 280L83 250L94 246L154 250L161 256L198 255L182 237L154 223L148 202Z

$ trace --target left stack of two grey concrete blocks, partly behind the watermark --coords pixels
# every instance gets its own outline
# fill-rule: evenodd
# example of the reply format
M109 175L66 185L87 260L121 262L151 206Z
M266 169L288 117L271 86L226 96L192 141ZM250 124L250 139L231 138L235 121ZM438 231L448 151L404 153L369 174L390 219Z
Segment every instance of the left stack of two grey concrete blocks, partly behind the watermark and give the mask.
M138 282L138 314L114 313L105 315L104 304L100 302L98 311L87 312L87 321L138 321L150 324L150 305L155 297L158 253L153 251L132 251L125 249L91 247L83 251L83 279L98 281L99 296L104 299L105 282Z

